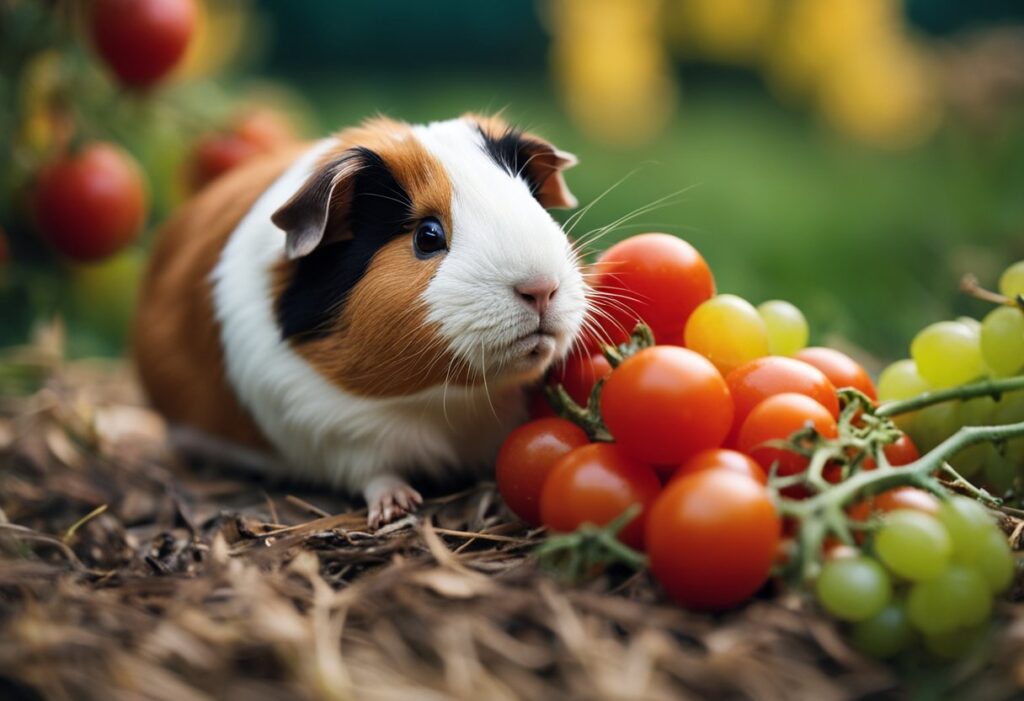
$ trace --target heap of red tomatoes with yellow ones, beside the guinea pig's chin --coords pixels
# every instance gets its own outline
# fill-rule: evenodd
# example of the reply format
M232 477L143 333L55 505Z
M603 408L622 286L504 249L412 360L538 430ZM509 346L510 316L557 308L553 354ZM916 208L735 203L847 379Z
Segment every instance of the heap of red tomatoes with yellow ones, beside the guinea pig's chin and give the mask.
M668 594L692 608L734 606L765 583L780 551L769 472L808 466L787 441L811 427L836 438L837 388L873 399L874 386L849 356L804 348L807 323L793 305L758 309L716 296L703 258L674 236L613 246L592 279L598 309L586 350L550 382L575 408L598 409L602 435L535 407L540 418L501 450L500 491L520 518L556 532L607 524L640 505L620 538L646 552ZM655 345L608 357L597 350L602 340L628 342L637 322ZM886 448L893 465L916 457L905 436ZM830 468L826 479L841 480L843 470ZM799 498L801 489L786 495Z

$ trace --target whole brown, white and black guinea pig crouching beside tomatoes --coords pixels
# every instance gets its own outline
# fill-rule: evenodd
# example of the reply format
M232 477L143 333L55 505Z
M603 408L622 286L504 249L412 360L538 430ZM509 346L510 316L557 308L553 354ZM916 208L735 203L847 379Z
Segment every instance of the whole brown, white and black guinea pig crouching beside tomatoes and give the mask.
M133 348L181 451L361 493L494 465L584 323L575 159L494 117L378 118L239 166L160 232Z

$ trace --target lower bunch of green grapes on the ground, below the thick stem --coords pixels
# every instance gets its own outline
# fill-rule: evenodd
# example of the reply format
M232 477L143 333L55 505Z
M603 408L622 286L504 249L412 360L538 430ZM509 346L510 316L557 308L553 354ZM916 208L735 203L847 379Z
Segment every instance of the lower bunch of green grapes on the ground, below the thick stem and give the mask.
M985 508L952 496L934 514L886 514L863 553L825 562L815 593L866 654L890 658L923 643L951 658L984 638L992 600L1010 586L1014 568Z

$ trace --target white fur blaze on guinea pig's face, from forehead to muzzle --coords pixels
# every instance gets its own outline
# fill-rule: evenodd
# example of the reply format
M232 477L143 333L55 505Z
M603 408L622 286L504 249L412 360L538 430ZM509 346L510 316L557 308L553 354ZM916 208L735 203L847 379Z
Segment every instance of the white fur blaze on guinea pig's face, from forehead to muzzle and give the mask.
M516 340L539 323L514 286L554 278L559 287L544 331L555 337L555 357L564 356L586 313L583 276L568 237L526 182L490 159L475 123L436 122L414 133L444 167L453 191L450 251L424 294L428 319L471 368L507 381L522 360L515 355ZM525 376L511 379L536 379L544 369L527 366Z

